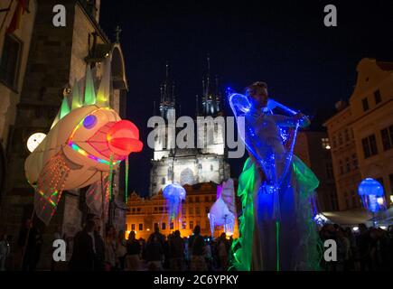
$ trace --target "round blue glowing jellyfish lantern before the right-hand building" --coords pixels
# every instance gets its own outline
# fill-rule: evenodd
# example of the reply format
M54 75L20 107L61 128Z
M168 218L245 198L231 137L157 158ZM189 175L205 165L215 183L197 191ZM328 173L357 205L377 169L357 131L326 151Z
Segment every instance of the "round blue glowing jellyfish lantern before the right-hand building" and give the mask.
M364 179L360 182L358 193L366 210L372 213L386 210L385 194L378 181L372 178Z

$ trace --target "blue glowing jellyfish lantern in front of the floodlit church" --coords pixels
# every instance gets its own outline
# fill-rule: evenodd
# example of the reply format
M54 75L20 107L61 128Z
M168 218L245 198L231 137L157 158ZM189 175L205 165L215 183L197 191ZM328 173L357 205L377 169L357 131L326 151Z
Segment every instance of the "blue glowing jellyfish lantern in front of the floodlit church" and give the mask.
M178 218L182 210L182 200L185 200L186 191L177 182L173 182L164 187L163 196L167 202L169 222Z

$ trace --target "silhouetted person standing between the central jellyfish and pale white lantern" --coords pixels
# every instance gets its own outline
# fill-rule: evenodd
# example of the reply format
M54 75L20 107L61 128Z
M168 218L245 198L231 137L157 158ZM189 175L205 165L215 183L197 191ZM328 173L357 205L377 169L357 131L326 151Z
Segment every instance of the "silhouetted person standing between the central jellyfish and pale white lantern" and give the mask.
M193 229L193 235L190 237L189 249L191 250L191 269L192 271L206 271L206 261L203 256L203 248L205 247L205 242L203 237L201 237L201 227L199 225L195 226Z

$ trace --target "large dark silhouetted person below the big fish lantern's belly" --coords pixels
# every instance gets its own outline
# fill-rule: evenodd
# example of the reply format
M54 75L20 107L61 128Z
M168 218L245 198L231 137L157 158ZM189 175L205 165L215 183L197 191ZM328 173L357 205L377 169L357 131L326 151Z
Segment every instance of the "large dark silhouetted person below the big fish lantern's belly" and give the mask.
M73 241L72 256L70 258L71 271L93 271L95 265L95 238L96 223L89 219L85 227L78 232Z

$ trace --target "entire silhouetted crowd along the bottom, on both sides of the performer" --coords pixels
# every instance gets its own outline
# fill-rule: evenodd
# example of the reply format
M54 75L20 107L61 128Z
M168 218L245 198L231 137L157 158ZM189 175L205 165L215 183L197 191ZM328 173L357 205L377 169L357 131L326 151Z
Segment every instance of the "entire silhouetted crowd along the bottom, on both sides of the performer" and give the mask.
M222 233L220 238L201 236L201 228L196 226L190 237L182 237L179 230L169 236L155 227L147 240L136 238L130 231L117 232L114 227L101 235L100 219L91 216L85 227L78 232L70 246L67 269L71 271L225 271L230 268L232 238ZM29 231L30 228L30 231ZM60 233L59 233L60 234ZM58 235L59 235L58 234ZM28 238L27 238L28 236ZM57 236L61 238L63 236ZM360 224L354 228L342 228L335 224L325 224L319 228L321 240L321 270L325 271L379 271L393 270L393 227L367 228ZM323 243L334 240L337 246L336 260L327 262L324 258ZM12 238L0 236L0 271L6 269L10 255ZM23 225L18 238L23 247L23 262L20 267L34 271L41 256L42 232L32 227L29 220ZM51 270L56 270L52 263Z

